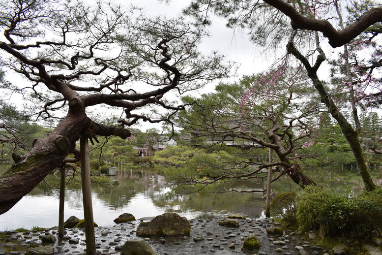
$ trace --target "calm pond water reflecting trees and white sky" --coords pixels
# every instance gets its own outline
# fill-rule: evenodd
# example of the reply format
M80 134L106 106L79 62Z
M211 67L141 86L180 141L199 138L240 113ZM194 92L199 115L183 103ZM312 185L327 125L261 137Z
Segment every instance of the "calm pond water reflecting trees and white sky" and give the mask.
M7 165L0 164L0 175ZM380 169L371 171L373 179L381 182ZM307 174L319 184L337 193L344 193L347 188L360 187L362 180L356 170L310 170ZM120 169L118 180L112 190L105 191L100 185L92 185L92 202L94 221L101 226L114 225L113 220L122 213L131 213L136 219L152 217L165 212L176 212L188 219L218 215L221 213L241 213L253 218L264 217L265 201L262 192L256 193L210 193L197 192L185 195L169 196L176 193L176 186L171 186L165 179L156 174L153 168ZM262 189L262 185L250 181L224 184L230 190ZM281 178L273 185L276 194L286 191L298 191L297 185ZM59 199L57 193L35 188L24 196L12 209L0 215L0 231L19 227L33 226L52 227L58 225ZM70 216L83 219L81 187L66 189L64 219Z

